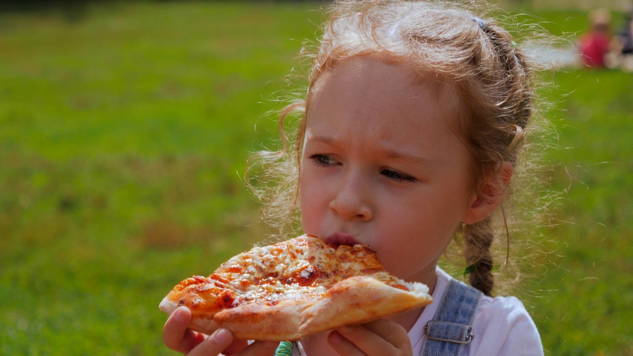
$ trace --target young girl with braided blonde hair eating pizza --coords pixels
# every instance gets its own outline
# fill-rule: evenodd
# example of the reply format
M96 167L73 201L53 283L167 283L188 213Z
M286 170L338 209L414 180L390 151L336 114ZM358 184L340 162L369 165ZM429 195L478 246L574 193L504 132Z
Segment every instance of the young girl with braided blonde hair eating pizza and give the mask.
M493 298L495 229L534 115L532 72L510 34L442 3L342 1L313 56L294 148L260 156L290 188L268 212L328 243L373 246L385 269L429 286L434 303L314 334L298 355L542 355L517 298ZM286 177L279 177L281 173ZM270 194L269 194L270 195ZM289 207L289 208L284 208ZM275 210L277 209L277 210ZM507 225L505 225L507 232ZM437 267L463 246L470 285ZM167 346L189 355L271 355L277 344L187 330L177 309Z

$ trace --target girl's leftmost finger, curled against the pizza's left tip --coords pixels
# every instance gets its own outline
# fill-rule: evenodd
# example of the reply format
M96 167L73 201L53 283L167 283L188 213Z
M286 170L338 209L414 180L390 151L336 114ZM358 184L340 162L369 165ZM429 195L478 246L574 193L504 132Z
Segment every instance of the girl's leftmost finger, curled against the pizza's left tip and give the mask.
M180 307L173 311L163 327L163 341L174 351L187 353L204 341L204 334L187 329L191 323L189 308Z

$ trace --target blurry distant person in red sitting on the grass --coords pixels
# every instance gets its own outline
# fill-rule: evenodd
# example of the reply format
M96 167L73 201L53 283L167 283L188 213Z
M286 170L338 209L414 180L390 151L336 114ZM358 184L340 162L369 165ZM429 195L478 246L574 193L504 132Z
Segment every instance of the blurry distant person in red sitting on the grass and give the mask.
M611 14L603 9L591 11L589 23L591 26L589 32L581 35L578 39L580 61L586 67L606 67L605 56L609 53L611 42L609 33Z

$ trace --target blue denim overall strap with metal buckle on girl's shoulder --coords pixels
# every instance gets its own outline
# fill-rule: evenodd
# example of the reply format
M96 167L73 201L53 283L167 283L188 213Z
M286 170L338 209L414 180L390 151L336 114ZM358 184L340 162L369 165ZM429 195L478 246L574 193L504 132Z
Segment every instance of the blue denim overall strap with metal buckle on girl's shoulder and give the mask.
M424 327L422 356L461 356L473 338L473 320L482 293L451 279L433 320Z

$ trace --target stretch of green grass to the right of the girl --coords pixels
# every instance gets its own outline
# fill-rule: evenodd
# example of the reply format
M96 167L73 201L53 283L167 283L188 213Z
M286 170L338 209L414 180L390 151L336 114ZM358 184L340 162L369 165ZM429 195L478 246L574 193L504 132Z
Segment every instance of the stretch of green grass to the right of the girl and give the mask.
M565 193L560 225L544 234L560 257L532 301L551 355L633 355L631 79L611 70L556 75L570 94L556 110L560 148L549 157L553 186Z

